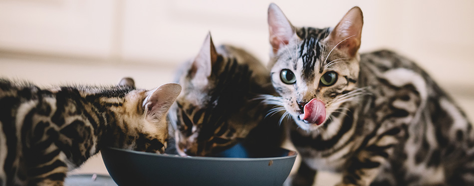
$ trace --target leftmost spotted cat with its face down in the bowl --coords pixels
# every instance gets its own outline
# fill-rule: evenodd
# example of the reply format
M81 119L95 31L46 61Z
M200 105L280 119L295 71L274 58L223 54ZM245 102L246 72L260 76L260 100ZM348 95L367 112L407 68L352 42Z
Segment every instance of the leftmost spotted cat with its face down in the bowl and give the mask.
M103 147L163 153L166 114L181 91L170 83L39 88L0 79L0 186L62 186Z

